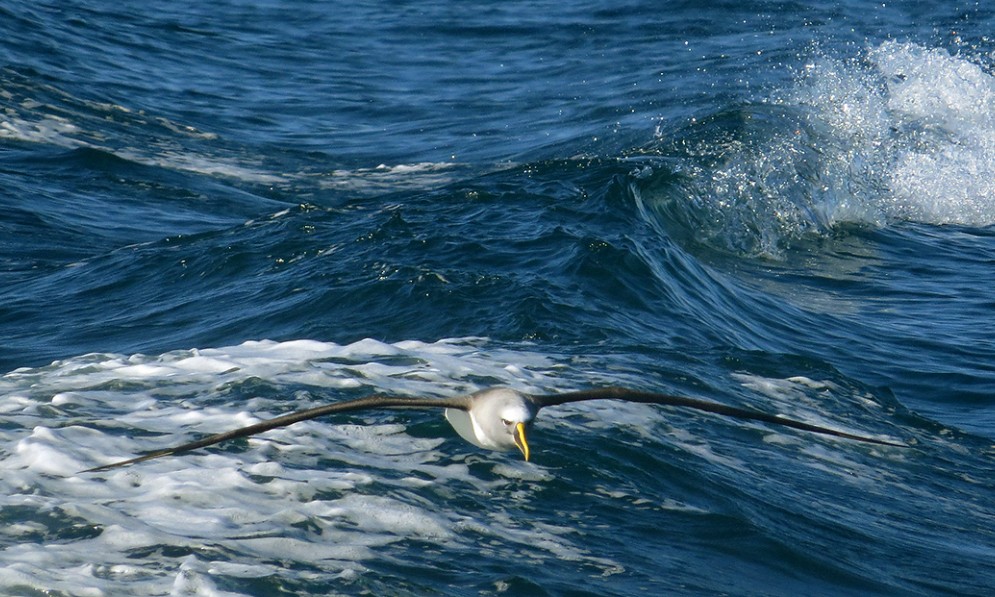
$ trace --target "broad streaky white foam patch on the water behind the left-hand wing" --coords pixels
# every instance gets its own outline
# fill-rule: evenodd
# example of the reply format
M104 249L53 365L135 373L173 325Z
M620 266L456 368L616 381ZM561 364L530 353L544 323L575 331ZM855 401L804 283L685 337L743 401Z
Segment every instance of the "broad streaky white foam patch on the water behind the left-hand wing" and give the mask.
M500 508L481 515L439 505L454 493L488 504L494 492L527 496L532 490L523 484L548 479L547 472L495 459L481 478L480 464L473 472L464 461L475 449L441 451L447 441L463 446L452 434L412 436L377 413L364 417L374 419L366 425L309 421L274 430L250 439L244 452L204 450L78 474L192 433L314 404L309 392L232 400L225 389L241 381L314 393L348 388L349 396L363 388L439 395L480 383L549 390L563 370L547 356L467 338L253 341L162 355L89 354L10 372L0 377L0 514L16 523L0 533L0 592L226 595L219 578L349 580L399 541L477 549L481 537L491 551L527 547L537 559L612 573L617 565L590 554L569 526L532 524Z

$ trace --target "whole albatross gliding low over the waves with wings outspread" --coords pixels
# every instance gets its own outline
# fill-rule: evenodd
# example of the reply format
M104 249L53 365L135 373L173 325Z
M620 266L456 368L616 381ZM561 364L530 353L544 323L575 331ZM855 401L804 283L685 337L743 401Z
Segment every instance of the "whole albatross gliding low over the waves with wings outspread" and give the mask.
M217 433L215 435L209 435L197 441L180 444L171 448L155 450L135 458L96 466L82 472L92 473L106 471L127 466L129 464L144 462L153 458L162 458L163 456L171 456L173 454L189 452L191 450L212 446L224 441L255 435L257 433L269 431L270 429L286 427L300 421L315 419L325 415L386 408L443 408L445 409L446 420L449 421L453 429L455 429L463 439L467 440L471 444L489 450L518 449L522 453L522 456L525 457L525 460L529 460L530 451L528 434L539 411L543 408L551 406L558 406L570 402L584 402L587 400L622 400L626 402L662 404L666 406L691 408L733 417L736 419L760 421L772 425L781 425L811 433L830 435L859 442L878 444L882 446L907 447L907 444L904 443L856 435L845 431L830 429L828 427L820 427L818 425L788 419L780 415L773 415L759 410L739 408L719 402L710 402L708 400L674 396L671 394L631 390L619 387L595 388L575 392L562 392L558 394L526 394L510 388L490 388L472 394L454 396L451 398L421 398L372 394L353 400L345 400L315 408L295 411L280 417L256 423L254 425L240 427L238 429Z

